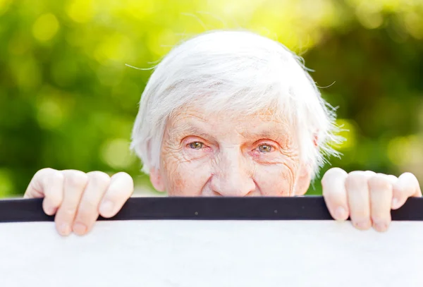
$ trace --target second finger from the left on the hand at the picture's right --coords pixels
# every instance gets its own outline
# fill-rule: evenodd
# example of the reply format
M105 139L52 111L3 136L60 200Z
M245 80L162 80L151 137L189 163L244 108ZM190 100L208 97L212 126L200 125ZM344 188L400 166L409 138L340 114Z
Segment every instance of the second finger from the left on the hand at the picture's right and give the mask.
M367 230L372 226L369 187L367 185L370 174L372 173L353 171L348 174L348 178L345 180L351 221L356 228L362 230Z

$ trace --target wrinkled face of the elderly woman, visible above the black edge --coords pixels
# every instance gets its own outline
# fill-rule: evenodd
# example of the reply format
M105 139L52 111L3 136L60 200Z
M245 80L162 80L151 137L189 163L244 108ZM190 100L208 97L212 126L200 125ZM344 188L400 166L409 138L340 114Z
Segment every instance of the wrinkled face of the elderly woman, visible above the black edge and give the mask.
M234 120L197 107L168 121L150 178L171 196L290 196L307 191L310 171L292 128L269 113Z

